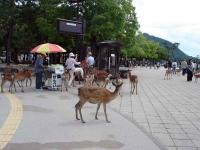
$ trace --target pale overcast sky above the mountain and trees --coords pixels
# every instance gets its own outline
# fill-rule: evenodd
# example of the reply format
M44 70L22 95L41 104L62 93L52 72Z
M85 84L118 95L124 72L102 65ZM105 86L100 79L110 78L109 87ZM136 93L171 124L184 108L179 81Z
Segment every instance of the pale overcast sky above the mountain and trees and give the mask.
M200 0L133 0L140 31L172 43L189 56L200 55Z

